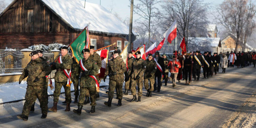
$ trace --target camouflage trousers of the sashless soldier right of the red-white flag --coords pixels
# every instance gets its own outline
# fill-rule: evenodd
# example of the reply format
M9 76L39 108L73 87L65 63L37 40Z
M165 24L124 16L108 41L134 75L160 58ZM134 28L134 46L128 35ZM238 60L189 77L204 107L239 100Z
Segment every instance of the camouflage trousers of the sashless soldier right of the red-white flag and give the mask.
M116 95L118 99L123 98L123 83L124 81L114 81L114 80L109 80L109 98L113 99L114 97L114 91L115 88L117 87Z

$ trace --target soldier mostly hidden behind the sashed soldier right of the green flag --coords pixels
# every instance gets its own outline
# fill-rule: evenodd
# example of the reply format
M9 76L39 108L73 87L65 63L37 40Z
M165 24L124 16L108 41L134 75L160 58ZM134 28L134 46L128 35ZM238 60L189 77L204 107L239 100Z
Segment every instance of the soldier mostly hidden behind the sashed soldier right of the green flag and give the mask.
M100 72L100 68L101 68L101 58L100 58L100 55L99 55L98 53L94 52L94 46L90 46L90 58L93 59L94 61L96 61L97 65L98 65L98 67L99 67L99 72ZM99 82L99 84L100 84L100 81L101 81L101 80L100 80L99 76L96 75L95 77L96 77L96 79L98 80L98 82ZM87 93L86 97L89 97L89 96L88 96L88 93ZM99 98L99 97L100 97L100 95L99 95L99 93L97 92L97 93L96 93L96 98ZM85 99L85 104L86 104L86 103L89 103L89 102L88 102L88 101L89 101L89 98L87 98L87 99L88 99L88 100Z

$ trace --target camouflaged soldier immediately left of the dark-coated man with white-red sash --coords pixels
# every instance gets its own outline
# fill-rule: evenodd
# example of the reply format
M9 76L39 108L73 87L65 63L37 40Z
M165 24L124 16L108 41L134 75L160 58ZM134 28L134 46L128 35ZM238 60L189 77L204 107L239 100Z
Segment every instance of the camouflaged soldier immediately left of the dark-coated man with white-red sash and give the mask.
M144 86L147 90L147 97L152 97L152 91L154 90L155 83L155 72L156 72L156 62L153 59L152 54L148 54L148 59L146 60L146 71L144 73ZM148 80L150 81L150 87L148 85Z

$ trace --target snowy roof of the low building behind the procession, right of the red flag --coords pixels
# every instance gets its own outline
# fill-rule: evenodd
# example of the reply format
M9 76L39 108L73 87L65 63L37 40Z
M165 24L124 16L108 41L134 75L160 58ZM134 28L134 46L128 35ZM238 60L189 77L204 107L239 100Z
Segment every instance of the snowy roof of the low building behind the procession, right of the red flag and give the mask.
M209 42L211 47L218 47L221 38L189 37L188 40L196 44L201 44L201 42Z

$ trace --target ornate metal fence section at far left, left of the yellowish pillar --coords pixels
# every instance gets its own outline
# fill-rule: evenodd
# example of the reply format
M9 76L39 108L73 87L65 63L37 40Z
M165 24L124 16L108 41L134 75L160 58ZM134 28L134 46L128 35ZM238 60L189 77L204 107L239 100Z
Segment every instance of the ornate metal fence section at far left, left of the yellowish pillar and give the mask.
M0 74L20 73L23 71L24 55L19 49L5 48L0 50Z

